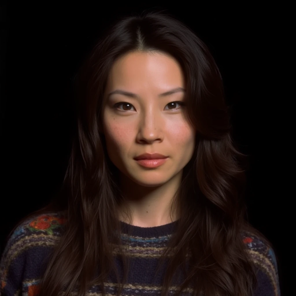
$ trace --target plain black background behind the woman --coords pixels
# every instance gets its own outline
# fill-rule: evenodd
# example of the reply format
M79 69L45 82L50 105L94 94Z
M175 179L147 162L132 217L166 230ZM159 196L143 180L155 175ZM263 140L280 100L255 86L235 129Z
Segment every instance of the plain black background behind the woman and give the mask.
M293 250L286 231L295 195L287 187L293 134L285 120L295 98L285 93L287 16L276 6L241 5L2 4L1 253L12 227L46 205L61 185L73 126L72 79L100 31L116 17L163 8L197 33L218 64L233 137L249 155L249 220L274 245L282 295L292 292L285 258Z

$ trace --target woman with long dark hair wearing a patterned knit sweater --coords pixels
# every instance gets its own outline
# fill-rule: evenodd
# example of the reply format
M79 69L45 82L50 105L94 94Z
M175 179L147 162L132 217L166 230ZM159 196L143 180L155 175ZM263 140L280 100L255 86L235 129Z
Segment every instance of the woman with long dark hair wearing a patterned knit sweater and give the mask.
M167 15L127 17L76 80L63 188L12 231L1 295L280 295L205 44Z

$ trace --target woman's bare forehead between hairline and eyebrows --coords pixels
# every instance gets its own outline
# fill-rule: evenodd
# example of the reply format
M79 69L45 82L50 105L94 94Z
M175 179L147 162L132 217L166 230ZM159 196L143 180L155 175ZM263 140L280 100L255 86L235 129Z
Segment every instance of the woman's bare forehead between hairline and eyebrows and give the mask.
M114 62L108 77L108 89L123 86L161 90L184 87L184 75L177 60L168 54L130 52Z

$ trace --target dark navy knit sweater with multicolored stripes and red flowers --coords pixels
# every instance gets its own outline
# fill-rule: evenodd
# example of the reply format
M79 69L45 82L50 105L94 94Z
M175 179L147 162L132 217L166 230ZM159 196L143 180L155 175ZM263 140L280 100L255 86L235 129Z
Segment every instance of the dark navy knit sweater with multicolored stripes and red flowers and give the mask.
M176 222L157 227L139 227L122 223L122 241L129 244L131 271L123 295L160 295L162 279L156 282L157 258L173 233ZM60 213L37 215L26 220L9 238L0 262L0 296L37 296L45 258L61 236L65 217ZM131 237L127 231L131 229ZM279 296L279 278L274 251L253 235L243 238L247 250L258 267L258 286L254 296ZM164 270L163 270L164 271ZM107 295L116 295L115 279L105 284ZM174 287L169 294L173 295ZM92 286L87 295L102 295L99 286Z

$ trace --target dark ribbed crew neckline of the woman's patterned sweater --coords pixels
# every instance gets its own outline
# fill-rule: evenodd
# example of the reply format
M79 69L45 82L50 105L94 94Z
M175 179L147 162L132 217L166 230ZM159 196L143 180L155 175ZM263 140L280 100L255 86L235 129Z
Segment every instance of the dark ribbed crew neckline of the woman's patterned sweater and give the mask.
M120 221L121 231L135 237L163 237L173 234L176 231L179 220L170 222L168 224L154 226L154 227L140 227L126 222Z

